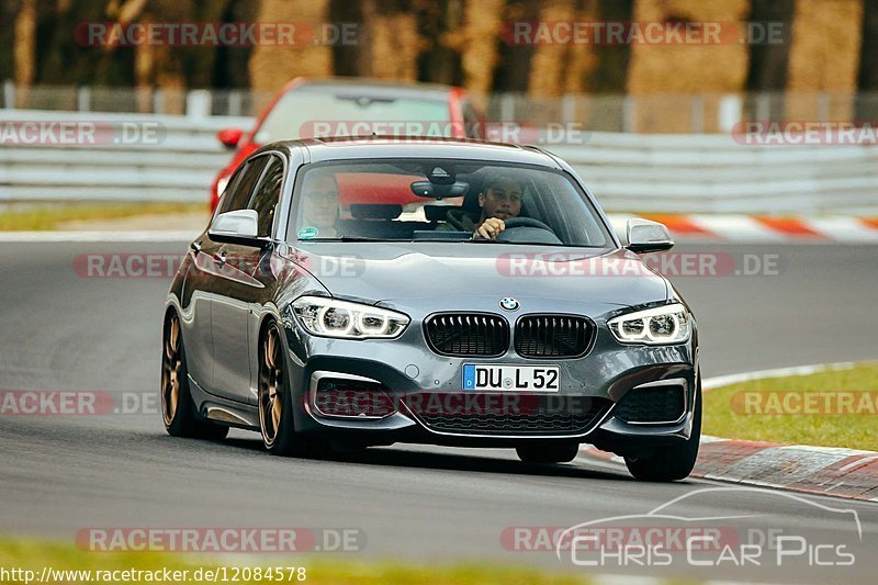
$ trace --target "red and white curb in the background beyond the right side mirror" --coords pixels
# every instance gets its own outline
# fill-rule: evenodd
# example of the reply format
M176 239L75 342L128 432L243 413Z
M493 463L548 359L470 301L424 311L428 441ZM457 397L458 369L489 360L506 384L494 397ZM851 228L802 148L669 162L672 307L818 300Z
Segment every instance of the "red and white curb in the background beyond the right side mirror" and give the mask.
M610 213L608 217L624 239L626 223L635 216ZM878 244L878 218L652 214L640 217L665 224L671 235L679 241Z

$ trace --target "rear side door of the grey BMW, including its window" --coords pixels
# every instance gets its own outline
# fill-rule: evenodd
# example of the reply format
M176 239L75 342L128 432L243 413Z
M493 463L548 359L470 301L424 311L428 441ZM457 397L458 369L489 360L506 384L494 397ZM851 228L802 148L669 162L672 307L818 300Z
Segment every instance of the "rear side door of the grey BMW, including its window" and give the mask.
M214 215L222 213L244 210L256 189L257 182L264 170L267 157L257 157L248 160L237 171L239 176L237 179L229 181L226 192L223 195L219 207ZM199 315L196 319L201 319L199 327L202 331L209 331L210 341L204 344L210 347L210 364L202 364L200 378L196 379L204 390L213 394L218 394L228 398L246 402L246 386L239 390L238 393L221 392L217 387L217 376L225 375L222 369L217 368L216 359L216 340L218 336L214 330L216 319L214 319L214 311L216 300L225 297L225 290L227 288L229 268L226 266L228 260L227 241L222 241L216 236L211 235L211 230L204 234L200 239L193 243L192 254L195 257L195 267L199 278ZM193 294L194 296L194 294ZM206 318L206 324L204 319ZM219 334L222 335L226 327L222 327ZM225 386L225 385L224 385Z

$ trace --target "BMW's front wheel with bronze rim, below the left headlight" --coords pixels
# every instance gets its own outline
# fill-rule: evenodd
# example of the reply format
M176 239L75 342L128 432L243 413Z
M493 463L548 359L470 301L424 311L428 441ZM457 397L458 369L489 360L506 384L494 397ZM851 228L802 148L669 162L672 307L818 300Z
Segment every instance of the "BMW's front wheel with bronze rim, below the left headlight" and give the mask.
M259 340L259 429L269 453L305 457L309 453L309 442L295 435L284 359L283 337L272 322Z

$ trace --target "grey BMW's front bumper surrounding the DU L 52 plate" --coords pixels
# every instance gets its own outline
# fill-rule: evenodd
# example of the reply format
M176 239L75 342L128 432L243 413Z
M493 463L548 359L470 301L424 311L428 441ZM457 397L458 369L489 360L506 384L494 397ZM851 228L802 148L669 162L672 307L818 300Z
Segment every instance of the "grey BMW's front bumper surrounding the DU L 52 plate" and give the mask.
M527 359L511 348L499 358L459 358L439 356L427 346L420 327L413 323L394 340L347 340L315 337L304 333L293 318L285 324L289 381L295 404L297 432L320 435L330 440L361 445L414 442L481 447L507 447L532 441L577 441L595 443L620 454L638 452L675 441L686 440L691 430L696 396L697 336L686 344L665 347L621 345L597 323L597 337L585 356L575 359ZM462 404L472 392L462 391L462 369L465 363L510 365L558 365L560 390L551 396L563 410L570 404L589 404L592 418L564 430L534 430L533 420L526 431L511 429L462 428L459 418L453 424L437 425L424 412L408 407L417 396L435 396L440 404ZM381 385L394 405L384 416L333 416L322 412L318 389L323 379L354 379ZM631 409L621 413L632 393L653 389L656 383L678 386L684 396L680 412L673 417L654 417L650 421L632 421ZM506 393L481 393L487 394ZM533 403L536 393L525 395ZM488 397L489 398L489 397ZM516 401L503 402L503 407ZM457 402L455 402L457 401ZM421 403L423 404L423 403ZM516 403L520 405L521 403ZM630 406L630 402L628 403ZM641 408L642 410L642 408ZM514 413L516 416L521 412ZM569 414L569 413L565 413ZM460 416L459 412L449 417ZM538 423L537 423L538 424Z

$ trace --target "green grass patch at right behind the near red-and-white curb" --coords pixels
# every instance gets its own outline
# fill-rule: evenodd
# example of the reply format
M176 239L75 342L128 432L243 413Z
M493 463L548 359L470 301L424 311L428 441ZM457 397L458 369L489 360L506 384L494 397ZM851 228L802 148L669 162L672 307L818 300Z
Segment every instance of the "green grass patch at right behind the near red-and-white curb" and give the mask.
M727 439L878 451L878 362L705 392L703 431Z

